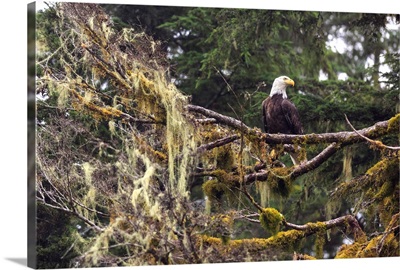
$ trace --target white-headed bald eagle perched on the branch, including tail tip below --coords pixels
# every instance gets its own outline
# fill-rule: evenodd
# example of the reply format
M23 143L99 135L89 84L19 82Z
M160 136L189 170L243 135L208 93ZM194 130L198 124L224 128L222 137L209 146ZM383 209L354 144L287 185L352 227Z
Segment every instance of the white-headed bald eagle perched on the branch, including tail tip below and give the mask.
M266 133L303 134L299 112L287 98L286 87L289 85L294 86L294 81L289 77L276 78L269 97L262 103L262 119ZM299 161L298 151L290 153L290 157L295 165L304 161Z

